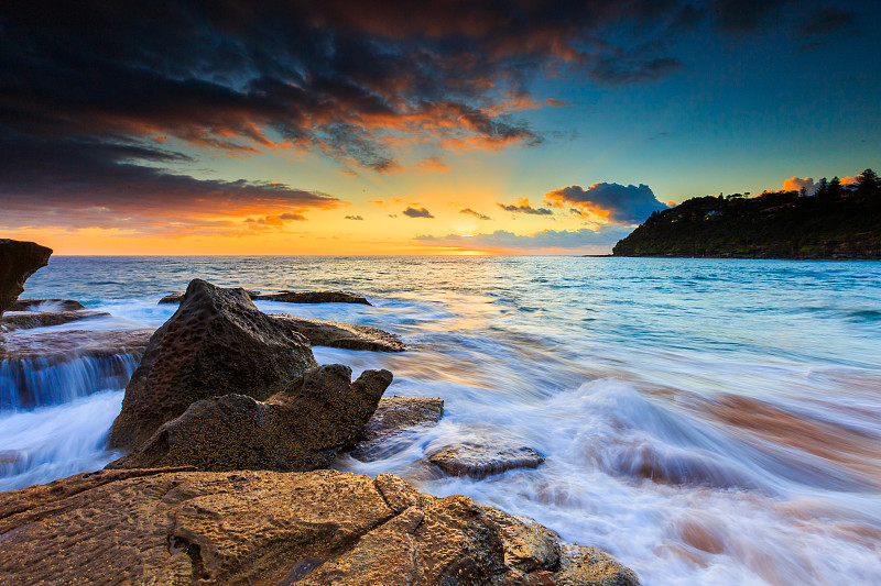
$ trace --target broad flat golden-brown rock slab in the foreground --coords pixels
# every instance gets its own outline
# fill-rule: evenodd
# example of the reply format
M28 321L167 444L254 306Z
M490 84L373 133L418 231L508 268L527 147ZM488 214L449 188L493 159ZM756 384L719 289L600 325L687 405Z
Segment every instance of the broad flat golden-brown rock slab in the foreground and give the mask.
M0 494L17 586L554 584L558 551L541 526L388 474L101 471ZM566 584L635 584L562 563Z

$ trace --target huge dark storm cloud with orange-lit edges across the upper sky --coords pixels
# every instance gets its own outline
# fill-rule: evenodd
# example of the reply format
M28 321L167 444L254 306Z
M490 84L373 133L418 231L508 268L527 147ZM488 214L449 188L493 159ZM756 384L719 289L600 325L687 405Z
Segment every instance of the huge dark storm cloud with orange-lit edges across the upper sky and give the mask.
M0 177L0 195L80 197L100 207L149 191L160 206L159 188L168 186L178 198L192 189L189 199L268 196L322 207L326 196L163 170L187 162L150 145L167 140L244 156L297 148L380 173L401 169L395 148L407 141L440 150L535 146L546 136L518 118L537 106L535 79L651 81L684 66L666 52L671 31L710 22L743 34L783 3L6 2L0 136L42 141L47 152ZM77 144L87 152L73 159L88 158L78 170L56 156ZM56 165L66 168L56 174ZM148 187L122 188L139 180Z

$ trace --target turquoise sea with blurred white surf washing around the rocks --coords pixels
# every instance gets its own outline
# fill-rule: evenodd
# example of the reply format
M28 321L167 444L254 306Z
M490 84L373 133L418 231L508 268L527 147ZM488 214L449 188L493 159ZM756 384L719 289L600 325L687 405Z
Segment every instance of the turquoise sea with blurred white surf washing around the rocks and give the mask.
M157 299L194 277L356 291L374 307L258 307L412 346L314 349L356 373L389 368L387 395L446 401L436 428L340 469L533 517L648 585L881 583L881 263L53 257L26 296L113 314L45 330L154 328L174 310ZM102 442L122 392L94 390L0 412L0 449L30 454L0 489L112 458ZM546 462L483 480L425 465L426 452L469 440L530 445Z

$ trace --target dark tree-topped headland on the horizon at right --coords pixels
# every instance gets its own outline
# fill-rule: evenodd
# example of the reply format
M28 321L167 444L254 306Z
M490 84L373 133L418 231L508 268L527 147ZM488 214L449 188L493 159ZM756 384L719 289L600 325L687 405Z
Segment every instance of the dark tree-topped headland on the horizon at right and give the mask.
M704 197L653 213L614 256L879 259L881 192Z

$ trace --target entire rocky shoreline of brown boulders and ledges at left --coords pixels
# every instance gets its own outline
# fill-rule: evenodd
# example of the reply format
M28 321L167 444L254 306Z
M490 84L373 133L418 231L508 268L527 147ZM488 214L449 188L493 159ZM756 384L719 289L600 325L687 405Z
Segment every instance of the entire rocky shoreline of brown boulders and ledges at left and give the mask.
M9 297L24 278L0 287ZM109 447L124 454L104 471L0 493L0 584L639 584L605 552L534 521L421 494L391 474L326 469L344 452L384 457L437 423L443 401L382 398L392 373L351 382L348 366L318 366L311 350L313 338L362 335L374 346L359 350L402 351L396 336L304 325L254 298L195 279L162 328L126 333L141 336L142 357L110 431ZM74 333L2 333L0 360L63 360L120 334ZM543 461L488 438L438 449L426 466L481 478Z

